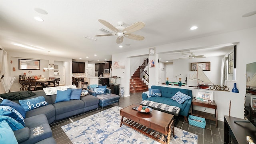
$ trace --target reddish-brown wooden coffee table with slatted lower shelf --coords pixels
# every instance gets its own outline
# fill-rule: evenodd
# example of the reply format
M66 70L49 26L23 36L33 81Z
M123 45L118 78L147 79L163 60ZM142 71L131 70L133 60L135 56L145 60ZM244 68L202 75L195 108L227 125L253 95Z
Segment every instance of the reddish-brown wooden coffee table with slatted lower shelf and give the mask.
M159 110L142 113L132 109L138 105L132 104L120 110L121 124L153 138L162 144L170 144L171 134L174 136L174 116ZM126 120L123 120L126 117ZM167 136L167 138L166 138Z

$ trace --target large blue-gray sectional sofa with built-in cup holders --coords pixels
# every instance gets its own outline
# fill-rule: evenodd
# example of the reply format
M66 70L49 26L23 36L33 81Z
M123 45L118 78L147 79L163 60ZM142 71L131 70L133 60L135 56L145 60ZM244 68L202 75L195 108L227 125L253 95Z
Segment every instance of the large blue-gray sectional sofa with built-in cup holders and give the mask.
M56 144L52 137L52 130L49 124L69 116L96 108L98 109L99 104L99 99L90 94L81 97L79 94L78 98L80 99L61 102L55 102L56 94L46 95L44 90L34 92L10 92L7 94L9 100L16 102L17 104L20 104L19 100L38 98L40 96L43 96L48 104L26 112L26 118L24 118L25 127L14 131L14 135L19 144ZM0 94L0 97L8 99L6 98L6 94ZM2 100L0 100L0 104L1 103ZM33 130L39 126L43 127L42 130L44 130L44 132L35 136Z

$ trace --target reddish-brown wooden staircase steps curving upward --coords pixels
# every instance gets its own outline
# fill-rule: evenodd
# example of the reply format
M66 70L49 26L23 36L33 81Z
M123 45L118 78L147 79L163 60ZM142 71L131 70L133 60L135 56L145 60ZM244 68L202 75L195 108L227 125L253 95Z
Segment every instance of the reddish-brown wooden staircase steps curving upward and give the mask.
M148 91L148 85L146 85L146 82L140 78L140 66L137 68L137 70L132 75L132 78L130 79L130 93L136 93L136 92L146 92Z

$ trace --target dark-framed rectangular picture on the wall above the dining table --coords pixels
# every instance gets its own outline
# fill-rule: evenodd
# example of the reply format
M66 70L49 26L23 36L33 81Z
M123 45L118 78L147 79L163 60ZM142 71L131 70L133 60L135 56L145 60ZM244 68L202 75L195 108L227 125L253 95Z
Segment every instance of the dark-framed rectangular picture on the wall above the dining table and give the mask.
M27 60L19 58L19 70L40 70L40 60Z

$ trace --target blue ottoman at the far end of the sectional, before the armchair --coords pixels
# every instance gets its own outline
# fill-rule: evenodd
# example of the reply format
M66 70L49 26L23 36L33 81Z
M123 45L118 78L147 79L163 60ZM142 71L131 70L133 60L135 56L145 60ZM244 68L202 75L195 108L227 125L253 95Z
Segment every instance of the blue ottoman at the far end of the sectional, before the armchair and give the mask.
M96 97L100 100L99 106L101 106L102 109L104 106L108 106L116 102L118 102L118 106L119 106L120 96L116 94L112 94L112 93L98 94Z

